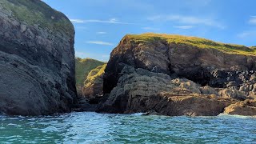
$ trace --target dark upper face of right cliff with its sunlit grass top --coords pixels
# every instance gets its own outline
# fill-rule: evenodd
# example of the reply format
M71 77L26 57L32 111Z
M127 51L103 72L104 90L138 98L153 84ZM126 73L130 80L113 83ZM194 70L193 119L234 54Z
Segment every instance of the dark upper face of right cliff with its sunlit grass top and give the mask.
M242 86L254 77L254 49L219 44L202 38L161 34L126 35L112 51L104 76L104 93L118 82L129 65L173 77L188 78L203 86ZM230 83L230 85L229 85Z

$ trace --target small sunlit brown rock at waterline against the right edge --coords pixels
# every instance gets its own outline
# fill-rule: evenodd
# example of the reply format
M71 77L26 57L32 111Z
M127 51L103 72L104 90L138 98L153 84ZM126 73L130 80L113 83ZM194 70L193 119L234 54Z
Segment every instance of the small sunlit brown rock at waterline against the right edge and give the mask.
M225 108L226 114L237 114L237 115L256 115L256 100L246 100L242 102L236 102Z

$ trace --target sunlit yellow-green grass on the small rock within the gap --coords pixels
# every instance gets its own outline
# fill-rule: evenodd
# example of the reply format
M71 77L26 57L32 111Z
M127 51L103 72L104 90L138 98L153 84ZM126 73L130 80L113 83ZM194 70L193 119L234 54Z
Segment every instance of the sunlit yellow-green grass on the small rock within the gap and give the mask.
M99 83L102 82L100 76L105 73L106 64L102 66L96 67L94 70L91 70L88 74L84 86L90 86L92 83Z

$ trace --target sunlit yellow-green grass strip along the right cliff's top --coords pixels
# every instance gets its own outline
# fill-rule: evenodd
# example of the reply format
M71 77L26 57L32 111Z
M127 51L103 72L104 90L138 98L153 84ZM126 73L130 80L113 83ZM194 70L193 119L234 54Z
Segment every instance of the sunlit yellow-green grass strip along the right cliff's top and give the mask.
M256 47L246 47L242 45L225 44L221 42L214 42L206 38L197 38L182 36L176 34L127 34L126 38L130 38L135 42L156 42L164 40L168 43L186 44L191 46L197 46L198 48L208 48L220 50L226 54L244 54L244 55L256 55Z

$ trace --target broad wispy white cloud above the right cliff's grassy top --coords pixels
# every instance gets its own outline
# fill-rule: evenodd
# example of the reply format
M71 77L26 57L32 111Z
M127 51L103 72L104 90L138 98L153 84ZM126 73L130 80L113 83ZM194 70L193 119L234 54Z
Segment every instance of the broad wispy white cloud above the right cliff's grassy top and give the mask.
M219 22L216 22L210 18L198 18L194 16L184 16L184 15L157 15L154 17L148 18L150 21L163 22L163 21L171 21L178 22L186 25L205 25L205 26L214 26L220 29L226 28L226 26L222 25Z

